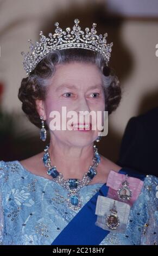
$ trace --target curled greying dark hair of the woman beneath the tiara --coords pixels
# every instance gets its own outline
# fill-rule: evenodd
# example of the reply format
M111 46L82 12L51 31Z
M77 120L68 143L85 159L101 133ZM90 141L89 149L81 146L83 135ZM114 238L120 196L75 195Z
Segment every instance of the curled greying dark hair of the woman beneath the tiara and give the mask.
M121 100L121 87L115 71L106 66L105 60L99 53L80 48L55 50L48 53L28 77L22 79L18 92L24 113L37 127L41 127L41 120L36 110L35 100L45 100L49 80L55 73L55 65L71 62L96 64L102 75L105 110L110 114L117 108ZM47 124L46 129L48 129Z

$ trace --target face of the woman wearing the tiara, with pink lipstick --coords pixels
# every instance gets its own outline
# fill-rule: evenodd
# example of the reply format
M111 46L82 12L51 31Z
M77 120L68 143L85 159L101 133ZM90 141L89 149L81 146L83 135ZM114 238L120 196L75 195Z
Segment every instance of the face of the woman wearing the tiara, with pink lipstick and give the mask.
M56 71L50 80L46 100L43 102L50 136L55 136L56 139L68 145L78 147L89 145L97 138L99 130L92 130L91 126L87 131L77 130L76 125L92 124L92 121L97 125L97 118L91 117L91 111L96 112L96 115L98 111L101 113L101 125L103 125L105 98L102 75L98 67L91 63L71 62L58 64L55 68ZM77 117L75 120L72 120L72 116L65 119L64 123L68 127L66 130L62 130L61 126L62 107L66 107L66 113L74 111ZM56 120L60 121L61 130L52 131L50 129L53 124L51 121L55 118L50 115L52 111L58 111L60 114L60 118L58 117ZM84 115L79 111L87 112ZM84 119L79 119L81 116ZM86 116L89 116L90 119L86 119Z

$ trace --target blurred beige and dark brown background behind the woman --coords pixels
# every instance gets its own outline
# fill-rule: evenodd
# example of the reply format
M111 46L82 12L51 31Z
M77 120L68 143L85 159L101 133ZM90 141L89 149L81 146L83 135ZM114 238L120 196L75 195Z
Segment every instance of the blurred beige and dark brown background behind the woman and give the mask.
M113 42L110 66L122 87L119 107L109 117L109 133L98 148L117 161L129 119L158 106L156 44L157 0L0 0L0 160L22 160L44 148L39 132L29 122L18 100L18 88L26 77L21 52L29 51L28 39L54 33L54 22L81 28L97 23L97 32L108 32Z

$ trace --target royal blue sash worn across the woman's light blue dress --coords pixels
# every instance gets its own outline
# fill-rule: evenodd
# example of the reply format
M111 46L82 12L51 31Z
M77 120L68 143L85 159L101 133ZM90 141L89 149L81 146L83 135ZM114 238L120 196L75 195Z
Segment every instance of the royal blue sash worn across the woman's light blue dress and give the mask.
M144 180L145 177L130 168L122 168L119 173L128 174L141 180ZM95 225L97 221L96 203L98 196L107 196L108 190L109 187L104 184L61 231L52 245L99 245L110 231Z

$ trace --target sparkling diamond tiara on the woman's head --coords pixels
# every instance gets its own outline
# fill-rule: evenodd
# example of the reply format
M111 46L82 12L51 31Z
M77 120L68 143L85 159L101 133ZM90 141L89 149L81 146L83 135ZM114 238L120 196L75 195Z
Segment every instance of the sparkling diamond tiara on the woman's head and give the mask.
M46 56L47 53L53 50L62 50L68 48L82 48L86 50L91 50L94 52L99 52L104 60L106 65L108 66L108 62L110 60L111 47L113 43L106 43L106 37L108 33L104 35L97 35L96 31L96 23L92 24L92 28L85 28L85 32L81 30L79 26L79 20L74 20L73 29L67 27L66 31L63 31L59 27L59 23L55 22L54 25L56 27L55 33L49 33L49 38L46 38L43 35L43 32L40 32L40 42L36 42L35 44L29 39L30 42L30 52L21 54L24 57L23 68L26 70L27 75L31 71L33 71L36 65L42 60L43 57Z

